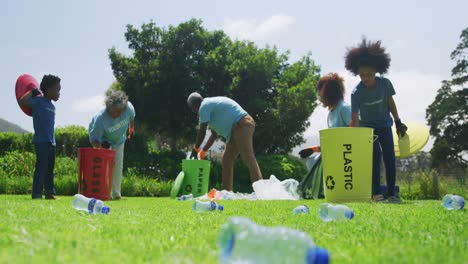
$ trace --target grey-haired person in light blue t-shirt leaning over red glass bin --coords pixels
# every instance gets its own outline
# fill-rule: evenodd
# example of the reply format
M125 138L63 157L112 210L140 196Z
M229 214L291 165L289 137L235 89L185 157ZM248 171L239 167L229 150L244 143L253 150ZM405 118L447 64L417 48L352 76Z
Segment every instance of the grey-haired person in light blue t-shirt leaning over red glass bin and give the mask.
M134 133L135 109L122 91L113 91L106 96L106 108L97 113L89 124L89 141L94 148L115 150L112 171L112 199L122 197L122 169L125 140ZM128 136L127 136L128 129Z

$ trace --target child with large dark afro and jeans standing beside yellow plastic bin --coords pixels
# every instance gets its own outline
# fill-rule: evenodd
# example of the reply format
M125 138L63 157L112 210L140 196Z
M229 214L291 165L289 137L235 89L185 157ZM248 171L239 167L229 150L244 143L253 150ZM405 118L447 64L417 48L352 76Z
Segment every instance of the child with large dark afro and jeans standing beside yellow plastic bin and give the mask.
M345 55L345 67L361 82L351 93L351 127L370 127L377 139L374 141L372 167L372 199L384 201L380 190L380 161L383 156L387 180L388 202L401 203L395 193L396 166L393 145L392 114L397 134L404 136L407 127L401 122L393 100L395 89L385 74L390 67L390 56L380 41L370 42L365 38L357 47L349 48Z

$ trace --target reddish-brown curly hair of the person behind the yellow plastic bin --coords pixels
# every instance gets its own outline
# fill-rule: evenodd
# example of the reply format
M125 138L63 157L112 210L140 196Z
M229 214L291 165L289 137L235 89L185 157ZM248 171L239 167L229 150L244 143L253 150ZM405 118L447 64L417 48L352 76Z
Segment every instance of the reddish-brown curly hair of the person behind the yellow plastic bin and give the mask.
M323 90L323 104L326 107L335 106L344 99L344 80L337 73L322 76L317 83L317 91Z

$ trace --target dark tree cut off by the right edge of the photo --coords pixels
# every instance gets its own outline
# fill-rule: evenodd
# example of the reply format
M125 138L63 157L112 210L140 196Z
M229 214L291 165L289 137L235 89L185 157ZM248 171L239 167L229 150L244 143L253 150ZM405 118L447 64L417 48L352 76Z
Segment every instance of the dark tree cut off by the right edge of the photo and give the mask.
M431 150L433 167L452 163L468 165L468 28L462 31L461 43L452 52L456 66L452 80L443 81L437 96L426 109L430 133L435 137Z

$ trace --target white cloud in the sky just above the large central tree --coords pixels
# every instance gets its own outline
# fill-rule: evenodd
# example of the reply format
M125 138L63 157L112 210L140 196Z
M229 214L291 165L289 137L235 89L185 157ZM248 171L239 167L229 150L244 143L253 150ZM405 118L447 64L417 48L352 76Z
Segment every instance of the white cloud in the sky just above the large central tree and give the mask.
M255 18L224 19L223 30L238 39L263 40L278 32L286 32L294 24L294 18L287 15L273 15L264 21Z

